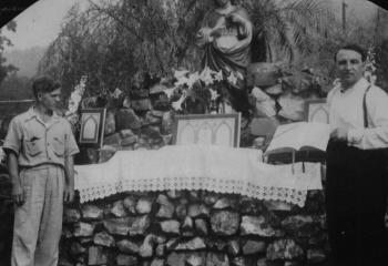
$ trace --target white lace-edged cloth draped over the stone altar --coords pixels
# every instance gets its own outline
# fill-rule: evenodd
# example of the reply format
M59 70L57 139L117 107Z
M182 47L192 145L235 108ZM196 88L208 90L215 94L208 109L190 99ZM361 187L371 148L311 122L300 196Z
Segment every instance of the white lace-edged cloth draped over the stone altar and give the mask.
M253 149L176 145L119 151L108 162L75 166L81 203L129 191L205 190L304 206L321 190L320 164L270 165Z

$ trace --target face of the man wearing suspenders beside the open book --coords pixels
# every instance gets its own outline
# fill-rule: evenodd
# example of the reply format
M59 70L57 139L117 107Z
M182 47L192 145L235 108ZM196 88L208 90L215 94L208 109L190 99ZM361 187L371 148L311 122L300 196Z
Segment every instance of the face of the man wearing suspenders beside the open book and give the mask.
M361 54L353 50L339 50L336 68L338 78L344 86L351 86L363 78L365 63Z

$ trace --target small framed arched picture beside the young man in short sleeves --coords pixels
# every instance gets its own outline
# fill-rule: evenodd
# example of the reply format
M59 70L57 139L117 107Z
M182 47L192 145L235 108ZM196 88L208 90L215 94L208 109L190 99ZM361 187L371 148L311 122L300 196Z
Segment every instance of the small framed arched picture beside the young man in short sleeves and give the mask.
M101 147L104 124L105 124L105 109L84 109L81 110L80 116L80 140L81 146Z

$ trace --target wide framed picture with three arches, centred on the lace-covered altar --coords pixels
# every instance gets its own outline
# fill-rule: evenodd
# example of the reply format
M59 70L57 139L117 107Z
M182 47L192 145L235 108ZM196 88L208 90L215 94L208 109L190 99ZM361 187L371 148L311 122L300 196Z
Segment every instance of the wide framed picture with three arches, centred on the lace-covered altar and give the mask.
M239 146L241 113L176 115L173 144Z

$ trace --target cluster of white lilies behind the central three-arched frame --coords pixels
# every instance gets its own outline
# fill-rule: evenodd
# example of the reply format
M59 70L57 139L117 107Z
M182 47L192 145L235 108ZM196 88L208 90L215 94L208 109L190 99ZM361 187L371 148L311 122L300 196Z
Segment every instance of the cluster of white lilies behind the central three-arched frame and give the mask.
M188 70L175 70L174 79L176 82L173 88L164 90L173 110L181 113L191 112L191 103L203 105L204 112L218 112L219 104L227 102L227 86L236 85L238 76L235 72L225 78L223 72L213 71L204 68L200 72L190 72Z

